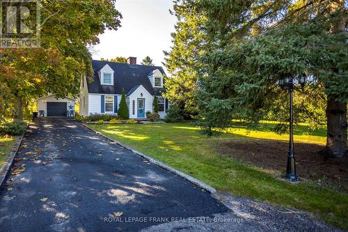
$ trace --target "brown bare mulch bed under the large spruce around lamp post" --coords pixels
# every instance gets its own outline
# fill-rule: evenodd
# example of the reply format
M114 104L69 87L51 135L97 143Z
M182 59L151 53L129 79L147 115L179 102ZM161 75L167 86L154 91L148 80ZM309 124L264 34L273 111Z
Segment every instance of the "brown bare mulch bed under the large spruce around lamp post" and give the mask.
M348 158L325 160L318 154L324 146L294 144L296 171L299 178L314 180L320 185L348 193ZM271 139L226 141L219 146L219 153L242 160L255 167L285 173L287 162L286 141Z

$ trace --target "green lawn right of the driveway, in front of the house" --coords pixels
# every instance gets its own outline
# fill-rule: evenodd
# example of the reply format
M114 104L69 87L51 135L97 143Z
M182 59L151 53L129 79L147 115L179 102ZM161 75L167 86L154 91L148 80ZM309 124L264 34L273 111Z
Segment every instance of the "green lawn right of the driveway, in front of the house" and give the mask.
M199 128L190 123L166 123L152 125L90 125L109 137L136 148L175 169L188 173L219 191L251 196L254 199L276 203L313 212L325 222L348 229L348 196L310 182L296 185L274 178L269 173L223 157L216 146L226 139L279 139L286 134L271 132L271 123L263 123L263 129L246 130L243 123L218 137L205 137ZM295 128L295 141L325 143L325 130L306 134L306 125Z

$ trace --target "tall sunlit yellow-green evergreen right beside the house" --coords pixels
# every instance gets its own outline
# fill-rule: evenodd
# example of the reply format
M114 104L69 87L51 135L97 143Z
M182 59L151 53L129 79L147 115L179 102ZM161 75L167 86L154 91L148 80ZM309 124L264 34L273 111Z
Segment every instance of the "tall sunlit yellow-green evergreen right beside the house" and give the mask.
M166 55L166 78L164 98L177 105L186 118L198 114L196 91L198 89L198 57L205 53L205 31L203 14L191 10L189 1L175 1L174 11L177 18L175 32L171 34L173 47Z

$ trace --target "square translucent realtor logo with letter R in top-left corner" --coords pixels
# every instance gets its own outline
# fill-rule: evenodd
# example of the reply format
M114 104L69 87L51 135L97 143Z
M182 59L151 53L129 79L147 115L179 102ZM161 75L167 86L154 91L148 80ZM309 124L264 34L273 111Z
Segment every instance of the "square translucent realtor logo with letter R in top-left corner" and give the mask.
M40 47L39 0L0 0L0 48Z

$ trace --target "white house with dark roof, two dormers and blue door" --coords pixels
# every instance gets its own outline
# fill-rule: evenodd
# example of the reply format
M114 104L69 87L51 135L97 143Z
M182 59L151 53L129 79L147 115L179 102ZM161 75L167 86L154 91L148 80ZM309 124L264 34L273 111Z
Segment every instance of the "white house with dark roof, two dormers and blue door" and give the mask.
M168 100L161 96L164 92L163 68L137 65L136 57L129 57L127 63L92 61L92 65L94 75L81 80L80 115L117 114L122 89L125 89L129 118L145 118L145 112L152 112L155 95L159 116L166 116Z

